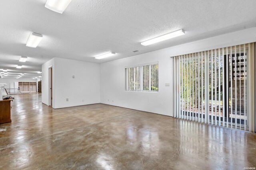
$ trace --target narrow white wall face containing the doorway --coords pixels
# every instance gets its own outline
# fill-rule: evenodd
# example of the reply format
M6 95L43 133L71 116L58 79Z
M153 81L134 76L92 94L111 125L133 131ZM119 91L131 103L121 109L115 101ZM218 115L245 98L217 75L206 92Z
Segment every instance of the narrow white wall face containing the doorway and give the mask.
M52 97L54 98L54 58L42 64L42 103L50 105L49 101L49 67L52 66ZM52 101L54 103L54 100Z

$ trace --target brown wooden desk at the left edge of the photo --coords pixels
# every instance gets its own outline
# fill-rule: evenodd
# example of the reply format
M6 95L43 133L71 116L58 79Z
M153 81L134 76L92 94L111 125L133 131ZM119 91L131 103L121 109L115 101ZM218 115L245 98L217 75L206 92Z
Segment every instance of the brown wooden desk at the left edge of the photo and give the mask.
M0 100L0 123L11 122L11 101L12 99Z

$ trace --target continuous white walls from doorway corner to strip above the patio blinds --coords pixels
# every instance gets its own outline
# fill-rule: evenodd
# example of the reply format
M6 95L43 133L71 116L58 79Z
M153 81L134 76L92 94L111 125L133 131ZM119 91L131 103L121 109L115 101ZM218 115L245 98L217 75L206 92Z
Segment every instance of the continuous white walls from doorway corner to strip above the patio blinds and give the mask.
M102 64L54 58L42 65L42 102L49 104L48 67L52 65L53 108L100 102L173 116L171 56L255 41L256 27L253 27ZM159 92L126 92L125 66L155 61L159 63ZM165 83L170 86L164 86Z

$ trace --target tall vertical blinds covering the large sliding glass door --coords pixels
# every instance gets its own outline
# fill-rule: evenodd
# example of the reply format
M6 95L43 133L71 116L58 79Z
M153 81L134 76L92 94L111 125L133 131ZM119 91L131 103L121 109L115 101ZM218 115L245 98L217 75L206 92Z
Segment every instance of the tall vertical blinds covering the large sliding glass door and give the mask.
M253 47L174 57L174 117L252 131Z

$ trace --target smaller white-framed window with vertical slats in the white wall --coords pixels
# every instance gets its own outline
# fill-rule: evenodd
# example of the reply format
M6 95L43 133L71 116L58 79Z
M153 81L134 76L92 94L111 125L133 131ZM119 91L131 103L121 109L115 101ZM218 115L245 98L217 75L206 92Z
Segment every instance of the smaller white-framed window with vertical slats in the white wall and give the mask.
M125 68L126 91L158 92L158 63Z

